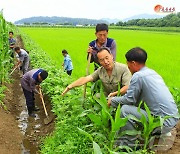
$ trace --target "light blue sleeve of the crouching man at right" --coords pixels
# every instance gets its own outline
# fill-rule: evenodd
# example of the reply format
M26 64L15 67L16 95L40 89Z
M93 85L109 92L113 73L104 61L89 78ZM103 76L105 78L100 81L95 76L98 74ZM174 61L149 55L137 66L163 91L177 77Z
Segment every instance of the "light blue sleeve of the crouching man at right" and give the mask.
M122 97L113 97L111 100L111 105L115 108L118 107L119 103L121 105L134 105L139 101L140 93L142 89L142 84L138 76L134 75L131 79L130 86L127 93Z

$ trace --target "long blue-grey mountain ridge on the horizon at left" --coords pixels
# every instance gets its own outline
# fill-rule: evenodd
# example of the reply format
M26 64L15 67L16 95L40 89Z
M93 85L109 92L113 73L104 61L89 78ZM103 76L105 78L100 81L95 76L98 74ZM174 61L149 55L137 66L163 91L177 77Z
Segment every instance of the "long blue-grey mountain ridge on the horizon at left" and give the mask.
M96 25L97 23L107 23L105 20L95 20L95 19L86 19L86 18L69 18L69 17L30 17L24 18L14 22L15 24L32 24L32 23L48 23L48 24L72 24L72 25Z

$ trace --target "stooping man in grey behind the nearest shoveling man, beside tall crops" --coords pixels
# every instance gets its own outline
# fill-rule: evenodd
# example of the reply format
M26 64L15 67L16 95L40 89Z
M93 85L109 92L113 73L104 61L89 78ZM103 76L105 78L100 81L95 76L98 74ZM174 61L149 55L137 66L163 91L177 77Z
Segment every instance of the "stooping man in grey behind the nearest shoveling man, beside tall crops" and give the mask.
M15 67L20 66L21 71L25 74L29 68L29 55L24 49L20 49L19 47L14 48L17 53L18 62Z

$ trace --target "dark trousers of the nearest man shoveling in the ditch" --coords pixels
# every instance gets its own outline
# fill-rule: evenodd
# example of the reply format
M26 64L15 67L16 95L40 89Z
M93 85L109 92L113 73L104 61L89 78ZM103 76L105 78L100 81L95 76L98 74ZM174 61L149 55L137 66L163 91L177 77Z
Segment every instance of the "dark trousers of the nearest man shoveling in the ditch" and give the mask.
M27 105L27 109L28 109L28 113L31 114L35 108L35 104L34 104L34 92L30 92L24 88L23 92L24 92L24 96L26 98L26 105Z

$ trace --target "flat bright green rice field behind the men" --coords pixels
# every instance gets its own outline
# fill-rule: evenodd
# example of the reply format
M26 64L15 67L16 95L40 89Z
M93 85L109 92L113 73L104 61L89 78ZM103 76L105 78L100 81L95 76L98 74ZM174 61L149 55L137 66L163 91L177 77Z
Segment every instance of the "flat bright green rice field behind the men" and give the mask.
M62 49L72 57L73 76L85 75L88 43L95 39L94 29L78 28L20 28L35 40L60 69L63 62ZM139 30L110 29L109 37L117 43L117 61L126 63L125 53L136 46L148 53L147 66L156 70L169 87L180 87L180 34L172 32L150 32ZM93 65L91 65L93 72Z

